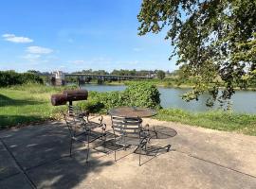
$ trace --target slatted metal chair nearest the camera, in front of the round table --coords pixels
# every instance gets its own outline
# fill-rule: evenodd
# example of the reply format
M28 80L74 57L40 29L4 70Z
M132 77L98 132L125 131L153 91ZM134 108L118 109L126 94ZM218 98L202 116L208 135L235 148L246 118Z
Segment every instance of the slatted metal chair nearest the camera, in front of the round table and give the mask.
M147 149L147 143L150 140L148 129L142 127L142 119L111 116L112 129L114 132L115 146L137 146L134 153L138 152L138 165L141 165L141 150ZM117 148L117 147L115 147ZM117 150L115 149L115 161L117 162Z

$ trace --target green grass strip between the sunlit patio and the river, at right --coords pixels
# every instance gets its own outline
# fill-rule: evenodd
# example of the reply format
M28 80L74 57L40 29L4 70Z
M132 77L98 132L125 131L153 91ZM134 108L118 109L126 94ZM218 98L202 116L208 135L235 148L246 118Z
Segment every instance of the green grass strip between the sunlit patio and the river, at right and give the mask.
M235 131L256 136L256 115L234 112L186 112L163 109L155 117L162 121L173 121L208 129Z

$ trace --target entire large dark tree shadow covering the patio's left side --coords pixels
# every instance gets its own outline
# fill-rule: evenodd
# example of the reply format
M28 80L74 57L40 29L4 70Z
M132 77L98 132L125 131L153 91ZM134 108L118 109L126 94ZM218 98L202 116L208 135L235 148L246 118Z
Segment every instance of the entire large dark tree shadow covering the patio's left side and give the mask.
M6 178L0 180L0 188L1 185L20 188L18 180L24 180L26 176L17 176L16 166L27 174L28 180L37 188L73 188L90 172L97 173L102 167L113 163L96 158L86 163L86 149L81 148L82 144L75 144L76 152L69 157L69 133L60 123L3 130L0 138L3 146L6 146L6 149L1 146L1 152L6 155L0 156L0 161L5 157L10 159L11 155L14 159L0 163L0 173L3 173L0 175Z

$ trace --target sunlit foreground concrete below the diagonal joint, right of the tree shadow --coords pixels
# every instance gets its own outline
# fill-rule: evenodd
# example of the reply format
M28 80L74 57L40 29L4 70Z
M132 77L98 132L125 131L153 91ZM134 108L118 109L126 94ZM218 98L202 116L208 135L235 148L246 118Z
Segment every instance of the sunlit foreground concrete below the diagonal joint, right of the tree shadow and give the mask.
M76 185L77 188L145 189L253 189L255 186L254 178L175 151L160 155L141 167L137 166L137 157L132 154L100 172L92 172Z

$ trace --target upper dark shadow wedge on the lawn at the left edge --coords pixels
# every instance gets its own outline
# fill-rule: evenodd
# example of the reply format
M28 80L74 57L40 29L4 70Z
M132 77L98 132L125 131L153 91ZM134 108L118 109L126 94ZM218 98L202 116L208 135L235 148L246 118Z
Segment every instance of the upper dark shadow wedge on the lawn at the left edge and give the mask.
M6 95L0 94L0 107L5 106L26 106L26 105L35 105L42 104L44 102L35 101L35 100L17 100L12 99Z

